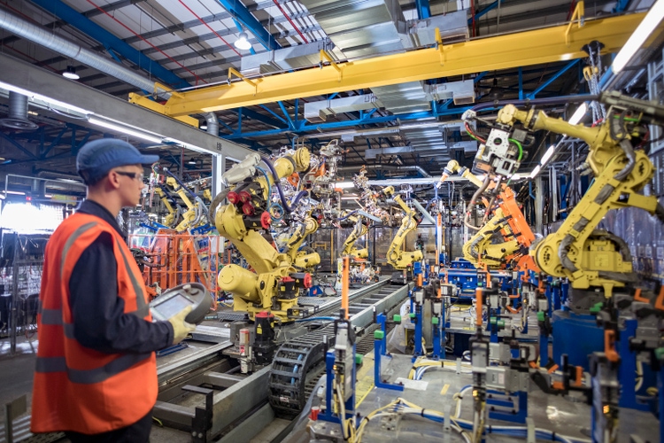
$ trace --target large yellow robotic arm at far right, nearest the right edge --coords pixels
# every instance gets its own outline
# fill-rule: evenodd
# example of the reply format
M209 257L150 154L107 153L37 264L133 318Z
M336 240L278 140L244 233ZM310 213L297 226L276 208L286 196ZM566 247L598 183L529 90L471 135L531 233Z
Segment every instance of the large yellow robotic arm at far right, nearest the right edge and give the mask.
M645 209L664 221L657 198L640 193L654 171L648 156L632 148L630 123L624 116L636 109L630 120L639 121L651 108L652 113L661 114L661 110L617 93L603 93L599 99L613 107L607 119L595 128L572 125L542 111L521 111L513 105L498 112L497 123L512 127L521 121L529 130L566 134L589 145L586 161L595 174L594 182L560 229L545 237L531 254L545 273L566 276L575 289L603 287L608 298L614 287L633 282L635 276L629 248L621 238L597 230L599 221L608 211L629 206Z

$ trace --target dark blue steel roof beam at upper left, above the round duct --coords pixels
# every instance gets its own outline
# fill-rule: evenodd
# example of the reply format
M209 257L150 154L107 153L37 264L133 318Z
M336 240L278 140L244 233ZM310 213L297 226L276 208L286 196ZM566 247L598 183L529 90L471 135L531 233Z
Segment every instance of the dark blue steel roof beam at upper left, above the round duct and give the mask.
M81 12L74 10L60 0L31 1L32 3L39 5L45 11L50 12L59 19L65 20L84 34L97 40L97 42L101 43L108 51L115 51L144 71L157 76L161 82L166 83L172 88L181 89L191 86L188 82L185 82L164 66L159 65L156 61L142 54L141 51L138 51L130 44L123 42L120 38L112 35L103 27L97 25L97 23L85 17Z

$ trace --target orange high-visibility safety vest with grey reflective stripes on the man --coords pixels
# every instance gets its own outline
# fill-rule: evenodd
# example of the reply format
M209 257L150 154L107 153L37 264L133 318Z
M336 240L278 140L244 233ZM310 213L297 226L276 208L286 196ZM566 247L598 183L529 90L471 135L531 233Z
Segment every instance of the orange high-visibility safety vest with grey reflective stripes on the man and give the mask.
M152 320L143 277L118 231L90 214L76 213L63 221L46 245L39 292L33 432L112 431L135 424L157 400L155 353L105 354L82 346L73 336L69 279L76 278L72 272L81 253L103 232L113 237L125 314Z

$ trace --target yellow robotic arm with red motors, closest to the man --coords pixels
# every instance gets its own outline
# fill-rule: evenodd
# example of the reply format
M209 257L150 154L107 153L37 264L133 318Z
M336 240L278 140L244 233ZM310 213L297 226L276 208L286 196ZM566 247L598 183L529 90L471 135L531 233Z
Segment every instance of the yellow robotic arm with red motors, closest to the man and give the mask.
M229 204L220 206L213 214L220 235L235 245L256 273L228 265L221 269L217 281L222 290L233 293L236 311L247 312L253 319L256 313L266 310L285 320L290 316L289 310L297 305L297 290L293 284L301 287L301 280L308 275L298 274L293 267L293 257L277 252L259 231L269 225L267 206L274 181L296 171L305 171L309 167L310 153L305 148L298 149L294 154L276 159L265 175L256 177L259 161L259 156L245 159L225 174L227 178L232 177L235 184L227 194ZM310 229L306 228L305 232Z

